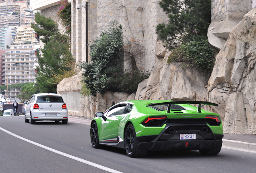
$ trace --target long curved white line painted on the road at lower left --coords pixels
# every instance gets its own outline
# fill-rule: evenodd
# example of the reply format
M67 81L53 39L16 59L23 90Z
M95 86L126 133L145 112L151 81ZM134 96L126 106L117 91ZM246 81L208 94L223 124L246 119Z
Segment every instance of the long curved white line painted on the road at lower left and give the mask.
M68 157L68 158L70 158L70 159L74 159L74 160L76 160L76 161L80 161L80 162L85 163L85 164L87 164L87 165L91 165L91 166L93 166L93 167L97 167L97 168L102 169L102 170L104 170L104 171L108 171L108 172L111 172L111 173L122 173L122 172L120 172L120 171L116 171L116 170L114 170L114 169L110 169L110 168L108 168L108 167L104 167L104 166L102 166L102 165L98 165L98 164L96 164L96 163L93 163L93 162L90 162L90 161L81 159L81 158L79 158L79 157L75 157L75 156L69 155L69 154L67 154L67 153L63 153L63 152L58 151L58 150L56 150L56 149L52 149L52 148L50 148L50 147L46 147L45 145L41 145L41 144L36 143L36 142L34 142L34 141L30 141L29 139L23 138L23 137L21 137L21 136L19 136L19 135L16 135L16 134L14 134L14 133L12 133L12 132L10 132L10 131L7 131L7 130L3 129L2 127L0 127L0 130L2 130L2 131L4 131L4 132L8 133L9 135L12 135L12 136L14 136L14 137L17 137L17 138L19 138L19 139L21 139L21 140L23 140L23 141L26 141L26 142L28 142L28 143L34 144L34 145L36 145L36 146L38 146L38 147L41 147L41 148L43 148L43 149L47 149L47 150L49 150L49 151L52 151L52 152L54 152L54 153L63 155L63 156Z

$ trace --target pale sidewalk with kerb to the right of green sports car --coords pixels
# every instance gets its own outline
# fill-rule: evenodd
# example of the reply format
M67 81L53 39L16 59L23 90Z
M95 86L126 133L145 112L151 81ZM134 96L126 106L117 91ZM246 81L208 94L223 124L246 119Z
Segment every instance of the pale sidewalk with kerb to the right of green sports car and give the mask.
M236 135L224 133L222 147L256 153L256 135Z

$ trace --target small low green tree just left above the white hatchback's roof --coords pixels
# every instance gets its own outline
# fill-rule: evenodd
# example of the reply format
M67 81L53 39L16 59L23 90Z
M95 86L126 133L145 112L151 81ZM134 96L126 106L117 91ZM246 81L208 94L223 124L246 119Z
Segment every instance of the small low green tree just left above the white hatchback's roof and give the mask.
M40 93L39 87L36 83L26 83L21 87L21 94L17 97L22 101L29 100L35 93Z

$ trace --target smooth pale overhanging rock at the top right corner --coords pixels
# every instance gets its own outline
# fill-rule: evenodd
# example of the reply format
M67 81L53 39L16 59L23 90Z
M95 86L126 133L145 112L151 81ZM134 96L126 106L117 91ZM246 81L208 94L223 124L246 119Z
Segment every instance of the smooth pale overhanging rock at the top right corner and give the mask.
M255 0L212 0L211 24L207 34L209 42L220 50L231 30L255 5Z

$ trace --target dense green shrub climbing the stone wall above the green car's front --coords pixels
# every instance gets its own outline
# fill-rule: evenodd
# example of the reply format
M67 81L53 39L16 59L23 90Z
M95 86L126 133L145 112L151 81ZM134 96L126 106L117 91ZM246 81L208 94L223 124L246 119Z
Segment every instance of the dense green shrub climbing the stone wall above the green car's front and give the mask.
M134 93L138 84L149 77L149 74L133 70L124 72L120 63L120 53L123 44L122 27L117 22L111 23L109 30L101 32L90 46L91 63L83 62L82 95L90 93L105 94L111 92Z

